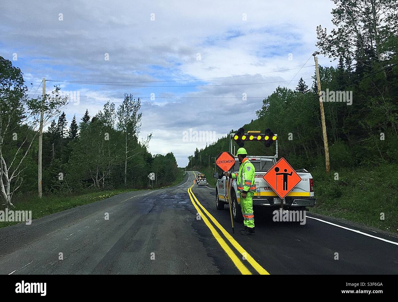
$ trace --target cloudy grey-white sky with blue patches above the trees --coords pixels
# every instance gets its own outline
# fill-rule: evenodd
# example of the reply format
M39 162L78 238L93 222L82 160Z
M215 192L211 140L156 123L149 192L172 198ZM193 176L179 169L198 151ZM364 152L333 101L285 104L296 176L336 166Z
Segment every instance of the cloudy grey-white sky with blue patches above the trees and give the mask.
M125 92L140 97L140 136L153 133L149 151L171 151L185 167L196 147L255 119L277 86L311 78L316 26L332 28L333 3L2 0L0 7L0 55L21 68L31 94L41 94L43 77L53 80L47 92L55 84L79 92L65 108L69 123L107 100L118 106ZM208 131L209 141L184 139L190 128Z

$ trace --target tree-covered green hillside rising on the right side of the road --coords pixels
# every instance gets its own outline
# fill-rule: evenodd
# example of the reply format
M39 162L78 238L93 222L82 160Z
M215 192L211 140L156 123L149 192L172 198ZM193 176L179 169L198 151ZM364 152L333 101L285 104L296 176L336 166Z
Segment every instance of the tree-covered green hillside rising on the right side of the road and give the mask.
M334 2L336 29L328 33L319 25L316 30L318 53L338 62L336 67L319 67L321 87L352 92L353 99L351 105L323 102L330 173L325 173L315 75L310 87L302 78L295 89L277 87L259 104L258 119L242 127L262 132L269 127L278 134L279 157L312 173L315 212L397 232L398 3ZM245 147L250 155L275 154L261 143ZM200 156L213 158L228 149L229 135L195 152L187 169L205 171L210 180L214 159L205 169Z

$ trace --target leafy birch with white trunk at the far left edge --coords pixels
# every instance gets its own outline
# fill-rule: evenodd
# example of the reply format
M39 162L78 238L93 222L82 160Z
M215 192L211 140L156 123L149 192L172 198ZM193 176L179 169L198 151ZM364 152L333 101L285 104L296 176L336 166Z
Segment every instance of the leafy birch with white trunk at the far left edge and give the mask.
M29 98L21 70L0 57L0 194L7 206L13 206L12 196L23 182L23 163L39 135L41 111L47 125L65 104L58 92L56 87L45 102Z

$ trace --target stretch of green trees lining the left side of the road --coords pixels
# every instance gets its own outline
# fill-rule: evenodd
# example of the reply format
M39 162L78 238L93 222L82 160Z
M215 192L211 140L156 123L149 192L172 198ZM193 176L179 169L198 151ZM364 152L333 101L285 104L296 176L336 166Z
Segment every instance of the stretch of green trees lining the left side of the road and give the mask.
M140 99L125 94L118 108L106 102L69 122L63 112L68 100L54 93L28 98L23 74L0 57L0 190L2 204L12 206L37 196L38 126L44 115L43 196L73 196L86 192L149 188L182 179L173 153L152 155L152 134L139 139ZM68 126L69 124L69 126ZM47 129L47 130L46 130Z

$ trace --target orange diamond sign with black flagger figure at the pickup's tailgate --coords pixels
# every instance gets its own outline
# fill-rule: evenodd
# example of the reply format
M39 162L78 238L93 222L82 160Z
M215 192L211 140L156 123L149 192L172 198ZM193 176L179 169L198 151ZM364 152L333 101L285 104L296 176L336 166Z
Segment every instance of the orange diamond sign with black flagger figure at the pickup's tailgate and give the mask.
M301 181L301 177L283 157L265 173L263 178L282 199Z

